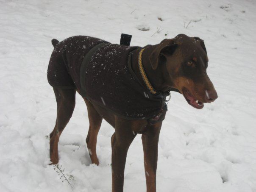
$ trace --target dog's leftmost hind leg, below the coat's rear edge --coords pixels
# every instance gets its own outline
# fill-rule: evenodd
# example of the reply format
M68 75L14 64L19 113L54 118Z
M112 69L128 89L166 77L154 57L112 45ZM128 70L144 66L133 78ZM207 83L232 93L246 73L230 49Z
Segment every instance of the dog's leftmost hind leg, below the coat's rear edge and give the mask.
M75 108L75 89L53 88L57 102L57 118L50 134L50 159L52 164L58 163L59 137L69 122Z

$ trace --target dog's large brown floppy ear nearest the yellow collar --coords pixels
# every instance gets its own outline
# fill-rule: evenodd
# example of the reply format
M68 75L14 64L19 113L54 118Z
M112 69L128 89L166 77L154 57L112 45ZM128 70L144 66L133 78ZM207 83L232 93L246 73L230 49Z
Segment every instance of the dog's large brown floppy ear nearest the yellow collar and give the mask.
M177 44L175 44L174 39L164 39L163 41L161 41L161 43L156 45L156 48L149 56L149 61L153 70L156 70L160 58L163 58L164 56L166 59L167 56L172 55L176 47Z

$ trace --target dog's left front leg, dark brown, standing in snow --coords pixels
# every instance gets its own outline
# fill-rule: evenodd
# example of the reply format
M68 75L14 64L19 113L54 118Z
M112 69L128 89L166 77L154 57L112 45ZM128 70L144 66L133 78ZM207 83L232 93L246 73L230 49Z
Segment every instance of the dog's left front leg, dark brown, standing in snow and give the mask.
M133 123L128 120L116 120L115 132L111 137L112 147L112 192L122 192L126 155L136 134Z

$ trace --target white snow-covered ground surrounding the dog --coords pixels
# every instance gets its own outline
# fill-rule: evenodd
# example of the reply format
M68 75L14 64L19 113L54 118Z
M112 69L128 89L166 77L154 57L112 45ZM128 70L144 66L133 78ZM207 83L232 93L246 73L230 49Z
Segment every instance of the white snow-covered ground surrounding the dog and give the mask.
M179 33L204 39L219 96L197 110L172 93L159 139L157 191L256 192L255 10L255 0L0 0L0 192L111 191L114 129L103 122L100 165L90 164L89 121L78 94L59 142L59 166L73 176L72 187L48 165L56 101L46 71L51 39L80 34L119 43L121 33L139 46ZM145 190L138 135L124 191Z

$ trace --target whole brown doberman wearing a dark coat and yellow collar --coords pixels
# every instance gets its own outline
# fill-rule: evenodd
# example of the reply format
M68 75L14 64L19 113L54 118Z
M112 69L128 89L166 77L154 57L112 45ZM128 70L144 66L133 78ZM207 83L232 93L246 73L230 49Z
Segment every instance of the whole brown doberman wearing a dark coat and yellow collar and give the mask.
M85 100L92 163L104 118L115 128L112 146L112 192L122 192L125 160L136 134L142 134L147 192L156 191L158 141L167 107L165 97L178 89L197 109L217 98L206 68L206 47L198 37L180 34L146 47L112 45L101 39L74 36L52 40L47 78L57 101L56 125L50 134L50 159L58 163L58 140L75 107L76 91Z

